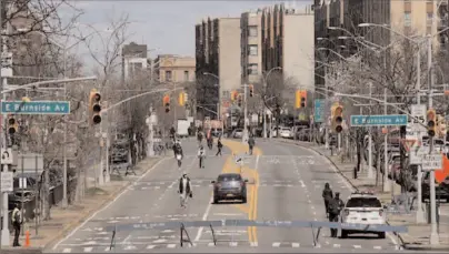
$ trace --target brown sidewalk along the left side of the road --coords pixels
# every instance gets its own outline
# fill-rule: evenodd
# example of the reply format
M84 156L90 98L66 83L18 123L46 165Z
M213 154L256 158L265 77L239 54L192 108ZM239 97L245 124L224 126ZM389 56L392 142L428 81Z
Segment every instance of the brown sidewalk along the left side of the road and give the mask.
M70 205L68 209L62 209L60 206L52 207L50 210L51 220L41 222L38 226L38 234L36 234L34 222L24 224L22 228L28 228L30 232L30 248L47 248L56 244L64 235L88 219L93 212L112 201L138 176L144 174L156 163L163 159L164 156L149 158L139 162L134 169L137 176L111 175L111 182L109 184L101 187L88 189L84 199L79 203ZM12 235L10 240L12 246ZM20 243L22 246L24 245L24 236L20 237ZM24 247L11 247L7 250L17 250L18 252L16 253L22 253L23 248Z

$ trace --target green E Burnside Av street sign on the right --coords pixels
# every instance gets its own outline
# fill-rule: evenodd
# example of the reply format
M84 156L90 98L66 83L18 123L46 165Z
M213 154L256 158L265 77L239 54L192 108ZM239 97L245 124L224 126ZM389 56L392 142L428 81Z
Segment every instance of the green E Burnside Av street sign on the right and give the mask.
M351 126L407 125L407 114L351 115Z

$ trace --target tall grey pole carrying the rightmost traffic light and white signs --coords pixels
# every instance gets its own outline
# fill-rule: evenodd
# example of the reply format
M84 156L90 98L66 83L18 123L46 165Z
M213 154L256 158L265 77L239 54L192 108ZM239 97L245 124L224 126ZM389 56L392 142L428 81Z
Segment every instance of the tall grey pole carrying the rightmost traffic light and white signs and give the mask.
M429 68L429 109L432 109L432 89L433 89L433 67L432 67L432 40L431 37L427 38L427 49L428 49L428 68ZM433 152L433 136L429 135L429 154ZM436 202L436 191L435 191L435 170L430 171L430 221L431 221L431 231L430 231L430 244L439 245L440 240L438 235L438 225L437 225L437 202Z

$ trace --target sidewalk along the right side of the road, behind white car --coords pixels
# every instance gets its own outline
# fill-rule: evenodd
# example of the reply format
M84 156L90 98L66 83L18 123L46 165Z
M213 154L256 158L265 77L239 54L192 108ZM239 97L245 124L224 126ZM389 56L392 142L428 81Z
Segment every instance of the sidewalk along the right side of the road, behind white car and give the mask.
M328 158L328 160L336 166L339 173L352 185L355 190L358 191L370 191L376 193L380 199L382 204L391 202L391 192L382 192L382 186L376 187L375 179L368 179L367 173L361 170L358 173L358 179L353 179L353 167L355 163L341 162L338 156L330 156L330 150L326 150L323 145L317 145L309 142L293 141L293 140L279 140L279 142L295 143L299 146L311 149L317 153ZM393 184L393 194L400 194L400 185ZM440 233L440 245L430 245L430 224L417 224L415 221L415 213L411 214L391 214L387 215L388 224L390 225L402 225L408 227L408 233L398 234L401 240L403 247L407 250L417 251L449 251L449 226L447 223L441 221L439 233Z

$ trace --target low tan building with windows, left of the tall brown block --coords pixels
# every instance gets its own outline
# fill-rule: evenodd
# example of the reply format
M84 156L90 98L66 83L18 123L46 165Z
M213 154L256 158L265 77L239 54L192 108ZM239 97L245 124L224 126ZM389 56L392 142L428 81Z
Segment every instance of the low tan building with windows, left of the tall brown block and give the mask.
M194 81L194 58L176 54L160 54L154 60L153 70L159 82Z

